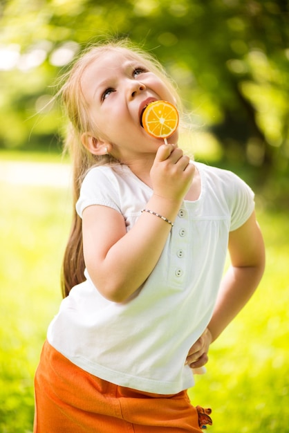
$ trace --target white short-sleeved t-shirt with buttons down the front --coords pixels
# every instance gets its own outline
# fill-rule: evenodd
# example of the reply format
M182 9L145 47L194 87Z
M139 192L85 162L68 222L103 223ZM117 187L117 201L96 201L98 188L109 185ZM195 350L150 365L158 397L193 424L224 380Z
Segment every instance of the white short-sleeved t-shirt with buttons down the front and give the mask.
M183 201L156 267L131 299L106 300L86 270L48 328L57 351L111 383L158 394L194 385L187 353L212 317L228 234L254 210L254 194L238 176L195 164L201 195ZM89 205L109 206L130 230L151 194L126 166L94 167L76 208L81 216Z

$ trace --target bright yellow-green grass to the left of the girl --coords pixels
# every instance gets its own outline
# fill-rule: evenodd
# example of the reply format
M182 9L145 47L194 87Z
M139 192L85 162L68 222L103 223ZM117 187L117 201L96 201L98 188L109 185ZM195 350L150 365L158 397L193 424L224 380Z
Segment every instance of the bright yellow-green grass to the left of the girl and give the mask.
M33 376L57 312L66 190L0 183L0 432L32 431Z

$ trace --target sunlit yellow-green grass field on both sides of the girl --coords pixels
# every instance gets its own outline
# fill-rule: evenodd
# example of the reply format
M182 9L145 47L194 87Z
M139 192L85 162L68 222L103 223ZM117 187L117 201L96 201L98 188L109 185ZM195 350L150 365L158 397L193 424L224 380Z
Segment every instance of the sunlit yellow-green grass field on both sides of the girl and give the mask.
M61 301L59 273L71 223L68 187L30 185L26 177L28 172L24 185L0 181L2 433L32 432L33 376ZM212 433L289 432L288 215L257 211L267 250L265 276L212 345L207 374L197 376L189 391L195 405L212 407Z

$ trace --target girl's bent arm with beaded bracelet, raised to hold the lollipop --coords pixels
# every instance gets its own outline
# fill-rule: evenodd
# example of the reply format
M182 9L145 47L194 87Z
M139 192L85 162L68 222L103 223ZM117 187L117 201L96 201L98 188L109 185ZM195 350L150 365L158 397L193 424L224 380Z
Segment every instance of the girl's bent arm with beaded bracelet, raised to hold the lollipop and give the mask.
M144 208L174 221L193 176L194 165L180 149L161 146L151 168L153 196ZM171 224L142 212L127 232L116 210L100 205L86 208L82 215L84 260L97 290L113 302L127 300L156 266L170 230Z

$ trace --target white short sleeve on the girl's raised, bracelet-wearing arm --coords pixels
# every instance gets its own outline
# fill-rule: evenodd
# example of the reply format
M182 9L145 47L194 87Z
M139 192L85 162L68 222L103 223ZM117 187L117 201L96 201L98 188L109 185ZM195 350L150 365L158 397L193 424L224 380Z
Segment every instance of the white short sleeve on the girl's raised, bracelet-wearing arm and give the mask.
M118 185L109 167L94 167L85 176L80 189L80 197L75 205L77 214L91 205L103 205L120 212Z

